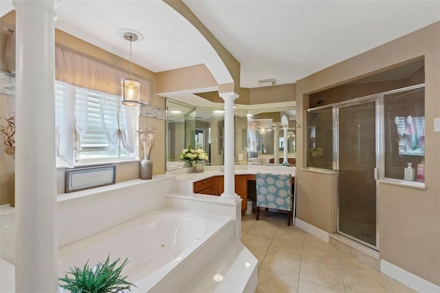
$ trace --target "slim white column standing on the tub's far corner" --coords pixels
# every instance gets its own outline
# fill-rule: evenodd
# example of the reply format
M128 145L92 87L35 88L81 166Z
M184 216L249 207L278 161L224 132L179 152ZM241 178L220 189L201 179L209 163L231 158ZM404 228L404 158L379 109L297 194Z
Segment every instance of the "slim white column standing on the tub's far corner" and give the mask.
M225 155L225 187L221 194L222 199L237 199L235 193L234 175L234 100L238 98L235 93L220 94L225 101L225 127L224 127L224 155Z

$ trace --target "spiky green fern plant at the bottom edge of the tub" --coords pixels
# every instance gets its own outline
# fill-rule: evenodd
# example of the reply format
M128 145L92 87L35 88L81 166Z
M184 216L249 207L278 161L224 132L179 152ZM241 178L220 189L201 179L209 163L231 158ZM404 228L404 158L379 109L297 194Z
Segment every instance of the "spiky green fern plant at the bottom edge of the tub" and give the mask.
M120 259L110 263L110 254L104 263L98 263L93 268L89 268L89 261L84 265L84 268L70 268L70 272L65 274L64 278L58 278L59 281L65 284L59 284L60 287L69 290L72 293L101 293L101 292L119 292L121 290L129 290L134 285L126 281L126 276L120 276L122 269L128 263L128 259L116 267ZM72 274L72 277L67 276Z

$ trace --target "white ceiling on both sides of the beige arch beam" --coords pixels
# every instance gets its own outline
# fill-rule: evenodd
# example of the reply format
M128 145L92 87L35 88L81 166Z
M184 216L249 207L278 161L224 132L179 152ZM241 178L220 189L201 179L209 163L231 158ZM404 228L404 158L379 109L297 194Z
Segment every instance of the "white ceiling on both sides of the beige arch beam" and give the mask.
M11 2L0 1L1 16ZM440 1L183 2L239 61L241 87L248 88L266 78L295 83L440 20ZM163 1L62 0L56 13L56 28L126 59L129 43L118 32L138 32L133 63L153 72L223 66L199 31Z

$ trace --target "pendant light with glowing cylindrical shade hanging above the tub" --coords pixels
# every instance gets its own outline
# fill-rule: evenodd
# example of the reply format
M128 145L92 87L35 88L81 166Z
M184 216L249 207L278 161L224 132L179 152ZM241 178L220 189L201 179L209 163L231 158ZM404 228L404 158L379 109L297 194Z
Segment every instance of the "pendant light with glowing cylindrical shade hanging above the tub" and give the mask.
M131 42L137 41L137 34L134 32L124 32L124 39L130 42L130 78L122 78L122 105L137 106L144 104L140 101L140 83L133 79L131 74Z

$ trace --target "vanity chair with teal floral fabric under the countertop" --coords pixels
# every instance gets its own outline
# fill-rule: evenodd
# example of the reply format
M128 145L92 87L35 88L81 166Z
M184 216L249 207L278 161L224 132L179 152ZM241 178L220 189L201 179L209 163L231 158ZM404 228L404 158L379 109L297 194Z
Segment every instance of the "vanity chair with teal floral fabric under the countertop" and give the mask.
M292 175L256 173L256 219L260 208L287 211L287 226L292 220Z

